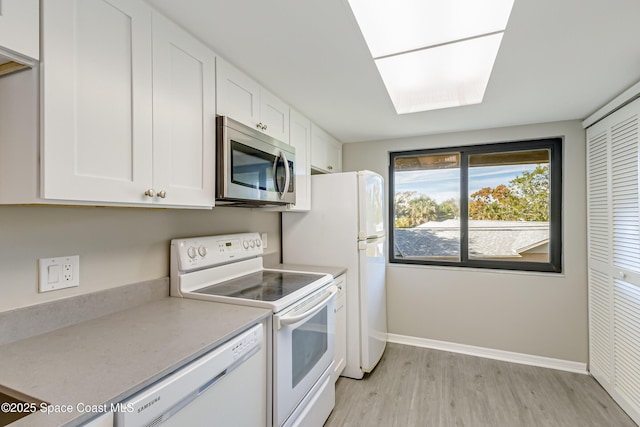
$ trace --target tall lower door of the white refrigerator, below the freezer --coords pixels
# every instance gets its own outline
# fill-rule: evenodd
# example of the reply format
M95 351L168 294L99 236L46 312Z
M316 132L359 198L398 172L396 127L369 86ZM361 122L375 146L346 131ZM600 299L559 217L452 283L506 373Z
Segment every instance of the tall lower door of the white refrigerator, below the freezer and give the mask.
M360 269L360 366L371 372L387 345L386 239L361 241Z

